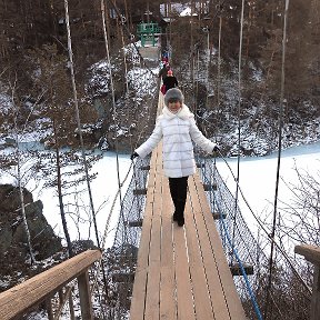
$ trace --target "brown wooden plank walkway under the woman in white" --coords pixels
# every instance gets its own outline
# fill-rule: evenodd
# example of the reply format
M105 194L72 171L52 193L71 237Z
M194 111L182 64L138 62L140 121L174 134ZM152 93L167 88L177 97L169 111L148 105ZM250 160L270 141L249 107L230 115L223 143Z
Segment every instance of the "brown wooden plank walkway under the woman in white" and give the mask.
M189 178L183 228L153 151L138 253L131 320L244 320L221 240L198 174Z

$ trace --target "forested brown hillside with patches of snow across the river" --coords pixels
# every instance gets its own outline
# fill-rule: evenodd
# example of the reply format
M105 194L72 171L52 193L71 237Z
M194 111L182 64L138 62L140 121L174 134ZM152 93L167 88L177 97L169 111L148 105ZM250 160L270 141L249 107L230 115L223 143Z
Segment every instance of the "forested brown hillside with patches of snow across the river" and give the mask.
M131 78L129 87L126 86L128 72L137 63L134 54L139 60L136 49L130 47L130 43L138 41L137 23L154 21L162 26L162 49L170 51L171 67L187 97L187 104L199 116L198 122L202 130L223 144L226 153L232 154L240 93L241 126L248 136L243 138L243 146L247 146L243 147L243 153L264 154L274 150L284 1L244 1L240 88L238 60L241 3L236 0L161 2L118 0L104 3L119 127L130 131L132 123L139 126L137 114L153 101L156 91L149 91L148 88L144 90L144 94L148 91L146 97L137 99L137 78ZM289 7L283 66L284 146L300 143L308 137L310 141L319 139L319 6L318 1L297 0ZM63 110L66 117L70 118L69 123L73 123L73 113L68 116L66 112L69 109L73 111L68 108L72 88L63 1L3 0L0 7L2 93L14 100L13 104L22 119L28 113L28 106L34 103L38 106L37 117L56 111L60 114ZM191 16L181 17L182 9L187 7ZM99 61L106 60L101 1L69 1L69 14L81 118L94 131L87 142L97 143L103 138L108 148L112 149L112 134L104 136L112 126L110 74L108 68L101 69L99 64ZM132 49L126 51L124 62L128 66L123 63L123 47ZM100 69L94 69L94 66ZM156 77L150 81L157 81L157 71L154 73ZM146 74L148 72L138 78ZM4 121L9 127L12 122L10 113L4 112L6 117L1 117L1 122ZM49 118L52 120L54 116ZM149 119L147 116L143 118ZM62 126L58 122L56 119L56 127ZM74 128L76 123L69 129L74 131ZM141 128L138 127L138 130ZM3 128L1 131L3 134ZM102 143L100 141L100 146ZM128 150L126 139L120 144ZM260 150L258 144L268 147Z

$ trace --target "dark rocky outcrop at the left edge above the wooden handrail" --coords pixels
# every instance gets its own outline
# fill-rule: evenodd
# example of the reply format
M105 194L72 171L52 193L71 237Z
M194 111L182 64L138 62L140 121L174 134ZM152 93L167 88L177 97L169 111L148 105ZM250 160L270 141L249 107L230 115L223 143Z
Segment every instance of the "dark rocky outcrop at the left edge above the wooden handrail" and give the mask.
M43 261L62 251L61 239L42 214L42 202L33 202L32 194L23 190L26 216L36 260ZM22 223L19 189L0 184L0 291L44 268L39 263L30 268L26 231Z

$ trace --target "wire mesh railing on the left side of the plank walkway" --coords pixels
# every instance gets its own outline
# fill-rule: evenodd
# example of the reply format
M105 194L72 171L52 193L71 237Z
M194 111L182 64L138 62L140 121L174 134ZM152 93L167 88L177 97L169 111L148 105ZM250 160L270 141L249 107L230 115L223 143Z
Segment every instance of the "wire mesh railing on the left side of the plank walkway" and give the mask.
M113 246L103 254L109 283L108 320L129 319L149 166L150 157L137 159L131 181L122 199Z

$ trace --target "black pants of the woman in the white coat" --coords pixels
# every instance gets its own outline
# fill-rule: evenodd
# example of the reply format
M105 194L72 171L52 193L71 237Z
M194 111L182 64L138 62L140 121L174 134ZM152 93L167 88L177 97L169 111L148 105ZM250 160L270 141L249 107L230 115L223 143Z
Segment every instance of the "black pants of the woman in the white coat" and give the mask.
M169 178L169 187L174 204L174 213L179 220L180 218L183 218L187 200L188 177Z

